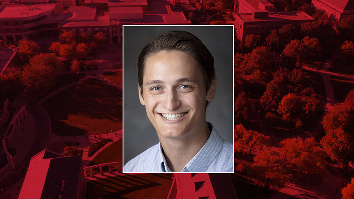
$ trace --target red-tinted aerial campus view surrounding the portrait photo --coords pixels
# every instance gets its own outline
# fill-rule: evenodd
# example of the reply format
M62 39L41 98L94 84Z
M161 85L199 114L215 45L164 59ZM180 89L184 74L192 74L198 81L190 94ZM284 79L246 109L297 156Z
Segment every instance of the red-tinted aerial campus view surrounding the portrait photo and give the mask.
M0 198L354 197L353 0L0 3ZM124 24L234 25L234 174L121 173Z

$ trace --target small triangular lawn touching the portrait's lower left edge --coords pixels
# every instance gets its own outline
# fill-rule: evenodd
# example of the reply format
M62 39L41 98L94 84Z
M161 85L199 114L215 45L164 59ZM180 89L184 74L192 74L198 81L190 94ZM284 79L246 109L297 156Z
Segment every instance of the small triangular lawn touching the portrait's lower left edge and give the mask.
M109 145L102 152L97 154L97 156L93 158L93 160L89 163L89 166L109 162L120 162L120 169L122 169L122 140L123 139L119 139L118 141L111 143L111 145Z

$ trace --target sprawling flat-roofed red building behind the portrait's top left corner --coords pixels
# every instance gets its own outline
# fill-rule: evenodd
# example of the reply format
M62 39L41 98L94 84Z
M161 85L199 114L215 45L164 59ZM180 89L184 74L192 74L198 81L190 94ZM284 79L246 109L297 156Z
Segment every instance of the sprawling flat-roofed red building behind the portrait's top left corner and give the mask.
M112 43L121 43L123 25L191 24L182 11L172 11L167 1L85 0L84 6L70 7L59 31L103 32Z

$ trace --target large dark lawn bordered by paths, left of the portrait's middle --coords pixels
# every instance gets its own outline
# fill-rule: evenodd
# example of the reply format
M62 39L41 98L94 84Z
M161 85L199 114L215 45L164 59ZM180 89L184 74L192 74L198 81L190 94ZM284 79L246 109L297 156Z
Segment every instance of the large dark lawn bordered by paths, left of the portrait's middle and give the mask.
M42 105L56 135L104 134L122 128L122 92L95 78L60 92Z

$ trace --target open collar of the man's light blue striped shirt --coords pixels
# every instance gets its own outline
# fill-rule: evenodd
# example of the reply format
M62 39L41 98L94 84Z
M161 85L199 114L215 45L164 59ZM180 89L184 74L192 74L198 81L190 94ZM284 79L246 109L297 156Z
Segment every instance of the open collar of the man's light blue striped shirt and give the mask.
M210 164L214 161L216 156L220 153L224 141L220 137L216 128L209 122L207 126L212 128L210 136L204 146L198 151L198 153L186 164L182 172L205 172ZM162 153L162 146L160 142L159 153L157 161L161 165L162 172L171 172L167 166L166 159Z

